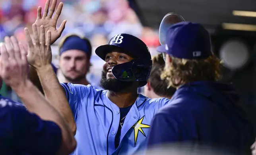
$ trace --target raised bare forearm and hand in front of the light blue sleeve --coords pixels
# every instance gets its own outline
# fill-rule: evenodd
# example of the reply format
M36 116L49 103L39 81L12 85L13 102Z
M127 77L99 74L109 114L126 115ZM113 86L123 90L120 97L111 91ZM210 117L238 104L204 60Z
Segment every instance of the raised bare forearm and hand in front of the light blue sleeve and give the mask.
M73 113L70 109L63 88L51 66L51 32L48 31L47 40L45 40L45 28L44 26L41 26L41 38L39 40L36 25L33 24L32 28L35 44L32 42L28 29L25 28L25 37L29 46L29 64L37 70L46 98L50 101L50 104L62 114L73 134L75 134L76 123Z

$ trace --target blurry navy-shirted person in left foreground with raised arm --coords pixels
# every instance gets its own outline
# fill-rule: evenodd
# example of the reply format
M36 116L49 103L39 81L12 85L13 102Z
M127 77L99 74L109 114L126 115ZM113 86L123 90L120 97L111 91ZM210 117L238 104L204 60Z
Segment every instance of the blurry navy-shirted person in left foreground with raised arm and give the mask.
M76 148L76 140L60 113L28 79L23 45L18 45L13 36L6 37L0 51L0 77L26 106L0 96L0 154L70 154Z

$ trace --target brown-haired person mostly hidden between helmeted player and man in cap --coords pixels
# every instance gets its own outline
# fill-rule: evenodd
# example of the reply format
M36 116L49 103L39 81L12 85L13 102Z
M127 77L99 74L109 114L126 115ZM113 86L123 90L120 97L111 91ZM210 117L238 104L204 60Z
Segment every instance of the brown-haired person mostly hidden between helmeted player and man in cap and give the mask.
M144 87L145 96L148 98L160 98L166 97L171 99L176 89L174 87L168 87L168 81L161 79L161 72L165 68L165 60L163 55L158 54L152 58L152 69L147 80L147 84Z

